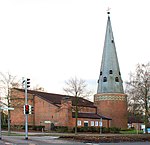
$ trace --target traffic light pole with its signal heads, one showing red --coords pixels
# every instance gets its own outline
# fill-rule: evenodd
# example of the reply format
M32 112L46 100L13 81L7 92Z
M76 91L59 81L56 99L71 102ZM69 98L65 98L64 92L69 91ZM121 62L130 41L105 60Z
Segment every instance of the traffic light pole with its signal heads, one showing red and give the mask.
M25 114L25 139L28 140L28 114L29 114L29 105L28 105L28 87L30 87L30 79L24 79L23 82L25 88L25 105L24 105L24 114Z

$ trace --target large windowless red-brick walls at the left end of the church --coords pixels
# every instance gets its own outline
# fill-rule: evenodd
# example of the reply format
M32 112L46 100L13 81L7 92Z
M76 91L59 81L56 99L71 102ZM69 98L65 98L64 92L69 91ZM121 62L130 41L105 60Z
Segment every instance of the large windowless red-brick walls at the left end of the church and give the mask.
M24 92L13 89L11 102L14 107L14 111L11 111L11 125L24 125ZM61 104L56 106L28 93L28 104L34 106L34 114L28 115L29 125L44 125L46 129L50 129L51 123L56 126L72 127L74 125L71 101L62 100Z

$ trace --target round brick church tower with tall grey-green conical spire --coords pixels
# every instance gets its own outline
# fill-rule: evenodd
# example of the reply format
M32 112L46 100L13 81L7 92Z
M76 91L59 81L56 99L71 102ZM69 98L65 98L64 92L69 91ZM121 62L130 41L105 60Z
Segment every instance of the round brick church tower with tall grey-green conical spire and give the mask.
M105 34L97 94L94 103L98 114L112 119L111 127L127 128L127 101L119 68L110 16Z

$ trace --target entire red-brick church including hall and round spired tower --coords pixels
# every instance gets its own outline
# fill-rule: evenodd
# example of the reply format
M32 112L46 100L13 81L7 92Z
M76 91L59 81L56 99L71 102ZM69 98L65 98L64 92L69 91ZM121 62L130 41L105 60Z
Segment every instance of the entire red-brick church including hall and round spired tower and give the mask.
M11 125L24 125L25 94L23 89L11 91ZM123 90L123 81L119 68L110 16L108 14L105 42L103 48L97 93L94 102L78 98L78 127L118 127L127 128L127 101ZM28 115L30 126L51 125L75 126L76 97L28 90L28 104L34 107L34 113Z

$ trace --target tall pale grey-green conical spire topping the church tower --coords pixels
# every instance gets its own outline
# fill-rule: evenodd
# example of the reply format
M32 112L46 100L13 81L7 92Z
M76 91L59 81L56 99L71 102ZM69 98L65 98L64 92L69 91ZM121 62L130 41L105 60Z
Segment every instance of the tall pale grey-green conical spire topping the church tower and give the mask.
M97 93L124 93L109 16L110 12L107 12L107 14L108 20Z

